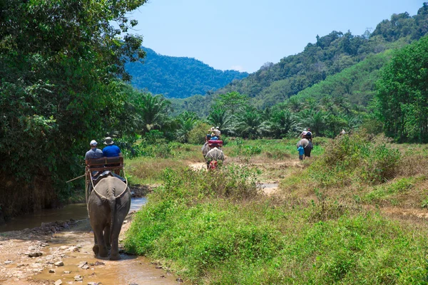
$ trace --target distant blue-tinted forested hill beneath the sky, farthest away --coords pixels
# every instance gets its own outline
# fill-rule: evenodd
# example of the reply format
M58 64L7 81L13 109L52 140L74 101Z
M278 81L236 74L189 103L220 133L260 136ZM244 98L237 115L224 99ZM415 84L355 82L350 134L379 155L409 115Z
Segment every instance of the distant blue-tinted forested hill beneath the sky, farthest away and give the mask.
M147 53L143 64L126 64L126 71L133 77L131 83L166 98L205 95L248 76L246 72L216 70L195 58L162 56L145 47L143 50Z

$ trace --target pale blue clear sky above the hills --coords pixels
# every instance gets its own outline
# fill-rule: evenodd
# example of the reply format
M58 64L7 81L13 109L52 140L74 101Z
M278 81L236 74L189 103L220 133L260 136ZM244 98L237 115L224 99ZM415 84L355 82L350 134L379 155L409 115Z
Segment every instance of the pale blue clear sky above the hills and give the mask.
M130 15L131 33L165 56L188 56L216 69L257 71L300 53L331 31L362 35L394 13L417 14L416 0L149 0Z

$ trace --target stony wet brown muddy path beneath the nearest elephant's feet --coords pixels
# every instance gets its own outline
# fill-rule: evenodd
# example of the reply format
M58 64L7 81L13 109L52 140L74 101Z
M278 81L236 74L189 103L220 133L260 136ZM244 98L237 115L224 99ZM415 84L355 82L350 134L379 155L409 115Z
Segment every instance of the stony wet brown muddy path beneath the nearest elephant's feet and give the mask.
M123 224L120 241L133 213ZM177 276L145 257L96 258L88 219L56 222L0 234L0 284L180 284ZM121 245L120 245L121 247ZM122 248L122 247L121 247ZM183 284L183 283L181 283Z

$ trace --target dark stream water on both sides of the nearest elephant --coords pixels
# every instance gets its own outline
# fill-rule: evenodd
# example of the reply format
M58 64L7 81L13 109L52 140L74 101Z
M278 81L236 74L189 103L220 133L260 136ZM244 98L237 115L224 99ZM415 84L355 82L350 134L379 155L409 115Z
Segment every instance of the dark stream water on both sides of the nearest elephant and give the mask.
M129 211L137 211L143 204L146 204L146 202L147 199L145 197L131 199L131 209ZM61 209L43 209L36 213L10 219L6 221L6 224L0 225L0 232L19 231L26 228L40 227L42 222L86 219L87 217L88 211L85 203L68 204Z

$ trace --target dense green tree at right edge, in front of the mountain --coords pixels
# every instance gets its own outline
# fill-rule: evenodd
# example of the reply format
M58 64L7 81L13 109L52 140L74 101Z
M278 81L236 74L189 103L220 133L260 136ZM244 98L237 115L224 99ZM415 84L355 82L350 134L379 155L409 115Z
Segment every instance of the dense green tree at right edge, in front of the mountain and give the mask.
M381 120L399 141L428 142L428 37L399 50L377 85Z

